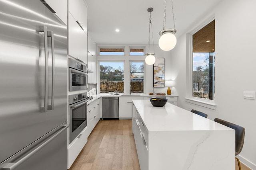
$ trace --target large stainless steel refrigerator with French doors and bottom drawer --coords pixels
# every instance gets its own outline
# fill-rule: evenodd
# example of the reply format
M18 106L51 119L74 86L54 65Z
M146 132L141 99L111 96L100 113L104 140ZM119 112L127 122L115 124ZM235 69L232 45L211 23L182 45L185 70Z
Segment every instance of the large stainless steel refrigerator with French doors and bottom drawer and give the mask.
M46 6L0 0L0 170L67 169L67 27Z

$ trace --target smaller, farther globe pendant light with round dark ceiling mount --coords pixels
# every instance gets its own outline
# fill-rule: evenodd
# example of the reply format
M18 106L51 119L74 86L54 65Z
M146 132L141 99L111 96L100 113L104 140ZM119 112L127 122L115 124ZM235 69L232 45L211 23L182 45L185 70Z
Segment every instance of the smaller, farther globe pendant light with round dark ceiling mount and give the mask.
M148 53L146 54L147 57L145 59L145 62L148 65L152 65L156 61L156 58L154 56L156 54L155 54L154 39L153 39L153 29L152 29L152 21L151 21L151 12L152 11L153 11L153 8L148 8L148 12L150 13L150 16L149 16L149 29L148 29ZM150 53L150 27L151 27L151 31L152 31L152 41L153 41L154 53Z

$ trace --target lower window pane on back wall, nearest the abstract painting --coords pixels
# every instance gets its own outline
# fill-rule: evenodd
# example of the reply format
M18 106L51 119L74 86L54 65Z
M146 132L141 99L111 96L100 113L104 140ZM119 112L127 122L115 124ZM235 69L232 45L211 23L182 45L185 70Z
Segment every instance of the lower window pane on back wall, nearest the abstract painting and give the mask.
M144 92L144 62L130 62L130 92Z

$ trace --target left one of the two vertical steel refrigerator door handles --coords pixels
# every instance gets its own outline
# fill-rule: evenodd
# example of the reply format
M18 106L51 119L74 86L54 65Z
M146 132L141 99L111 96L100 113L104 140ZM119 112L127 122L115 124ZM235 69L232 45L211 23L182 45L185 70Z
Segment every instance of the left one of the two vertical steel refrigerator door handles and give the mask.
M44 107L40 107L40 112L47 112L48 105L48 43L47 27L40 26L40 32L44 33Z

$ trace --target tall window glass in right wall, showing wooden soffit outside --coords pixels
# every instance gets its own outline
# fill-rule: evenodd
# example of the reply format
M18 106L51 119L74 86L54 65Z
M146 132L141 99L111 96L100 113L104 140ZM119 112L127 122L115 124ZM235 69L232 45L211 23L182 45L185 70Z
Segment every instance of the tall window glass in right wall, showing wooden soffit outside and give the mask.
M193 34L193 97L214 100L215 20Z

